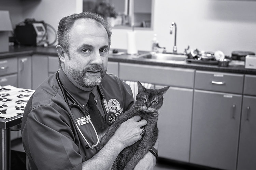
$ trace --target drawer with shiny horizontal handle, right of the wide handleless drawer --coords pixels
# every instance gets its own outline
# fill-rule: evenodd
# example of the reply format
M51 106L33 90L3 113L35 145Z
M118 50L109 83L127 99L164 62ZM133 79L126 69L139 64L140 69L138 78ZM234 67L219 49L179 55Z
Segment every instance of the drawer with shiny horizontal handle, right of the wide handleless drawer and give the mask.
M243 74L196 71L195 88L242 94Z

